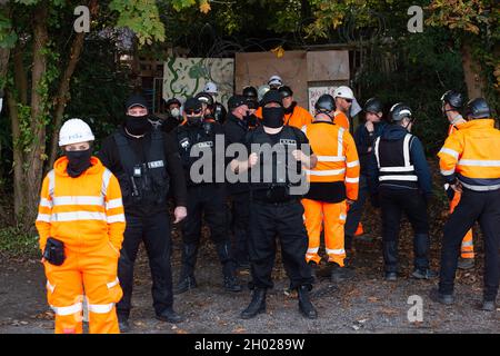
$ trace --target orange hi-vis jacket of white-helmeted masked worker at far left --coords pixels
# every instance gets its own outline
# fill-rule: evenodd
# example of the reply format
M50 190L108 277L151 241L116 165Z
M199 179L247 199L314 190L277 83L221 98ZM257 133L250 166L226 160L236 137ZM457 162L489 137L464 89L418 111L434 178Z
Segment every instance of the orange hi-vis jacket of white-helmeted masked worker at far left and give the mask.
M81 176L71 178L64 156L43 179L36 221L42 251L48 237L79 251L107 241L120 250L126 228L120 186L97 157L91 164Z

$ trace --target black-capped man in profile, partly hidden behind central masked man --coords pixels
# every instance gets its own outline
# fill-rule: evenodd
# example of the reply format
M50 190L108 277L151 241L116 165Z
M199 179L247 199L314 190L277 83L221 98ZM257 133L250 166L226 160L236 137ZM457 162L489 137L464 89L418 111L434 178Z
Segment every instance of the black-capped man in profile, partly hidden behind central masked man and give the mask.
M226 145L246 144L251 117L248 108L248 99L243 96L229 98L228 107L230 113L224 122ZM250 187L247 182L228 184L231 197L232 230L234 235L233 256L237 265L249 268L248 258L248 218L250 205Z

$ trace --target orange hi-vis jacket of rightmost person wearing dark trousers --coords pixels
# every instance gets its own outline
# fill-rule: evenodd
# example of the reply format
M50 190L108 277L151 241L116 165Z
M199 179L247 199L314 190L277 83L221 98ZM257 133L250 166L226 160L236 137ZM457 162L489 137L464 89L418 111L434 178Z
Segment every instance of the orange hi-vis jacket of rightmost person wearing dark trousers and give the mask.
M470 190L500 189L500 131L493 119L476 119L449 136L438 154L441 175Z

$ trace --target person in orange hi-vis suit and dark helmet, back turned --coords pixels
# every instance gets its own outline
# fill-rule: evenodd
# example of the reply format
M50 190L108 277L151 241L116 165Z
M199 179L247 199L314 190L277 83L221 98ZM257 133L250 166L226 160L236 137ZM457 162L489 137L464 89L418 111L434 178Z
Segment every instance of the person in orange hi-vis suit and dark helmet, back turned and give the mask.
M344 267L344 224L348 205L358 199L359 158L352 136L332 122L334 99L321 96L314 105L316 119L302 128L318 157L314 169L307 170L310 188L302 199L304 224L309 236L306 260L317 269L318 250L324 225L324 245L331 264L331 279L343 281L352 277Z

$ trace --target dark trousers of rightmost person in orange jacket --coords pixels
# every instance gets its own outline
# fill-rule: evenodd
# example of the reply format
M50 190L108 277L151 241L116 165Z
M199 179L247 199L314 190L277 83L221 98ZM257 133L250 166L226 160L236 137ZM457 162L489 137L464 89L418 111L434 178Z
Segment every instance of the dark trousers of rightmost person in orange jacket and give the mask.
M484 300L494 300L500 279L500 190L478 192L464 189L443 228L439 291L453 293L460 246L466 233L479 221L484 238Z

